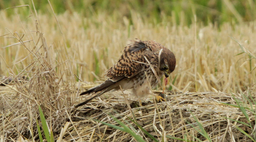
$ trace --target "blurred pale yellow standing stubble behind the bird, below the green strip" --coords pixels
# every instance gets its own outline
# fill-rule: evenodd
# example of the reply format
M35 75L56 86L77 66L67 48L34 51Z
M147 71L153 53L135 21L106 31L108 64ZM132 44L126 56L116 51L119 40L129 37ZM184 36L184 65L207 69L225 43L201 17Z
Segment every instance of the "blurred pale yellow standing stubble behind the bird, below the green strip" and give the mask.
M20 36L26 32L27 34L22 38L23 41L34 39L35 43L37 42L33 17L21 19L22 26L17 16L7 18L4 11L1 11L0 16L3 19L0 25L6 27L0 29L0 35L5 35L0 38L1 47L18 42L17 39L12 38L10 32L17 32ZM211 24L206 27L200 24L191 25L191 27L176 26L168 21L156 25L147 23L146 20L143 22L137 13L133 13L134 25L129 25L125 17L122 20L115 17L118 16L108 17L103 13L90 19L82 18L76 13L58 15L57 19L63 34L54 16L40 15L38 18L53 60L59 60L59 56L65 56L64 51L67 50L67 58L71 62L70 69L79 76L82 67L83 81L98 79L91 72L103 77L108 67L118 60L127 41L134 38L155 40L175 53L177 66L171 78L178 75L174 86L183 92L214 91L214 89L236 92L244 90L244 86L251 87L255 81L255 70L250 73L249 57L243 54L235 56L240 53L240 48L236 41L230 38L233 37L246 49L255 53L256 42L253 38L255 22L243 25L223 24L220 28ZM25 43L25 45L29 44L32 42ZM65 44L67 49L62 48ZM17 74L20 72L19 69L27 67L31 62L31 58L27 58L29 51L23 46L15 45L0 50L4 58L4 60L1 59L2 75L10 75L8 66ZM195 64L197 65L196 73ZM255 60L252 60L253 67L255 67Z

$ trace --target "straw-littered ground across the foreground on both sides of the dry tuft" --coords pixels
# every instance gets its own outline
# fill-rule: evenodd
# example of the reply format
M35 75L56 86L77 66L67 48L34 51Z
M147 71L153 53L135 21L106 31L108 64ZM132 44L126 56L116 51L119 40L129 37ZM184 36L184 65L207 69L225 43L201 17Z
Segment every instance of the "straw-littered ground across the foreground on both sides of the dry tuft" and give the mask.
M77 83L77 86L79 86L78 84L80 83ZM91 87L91 85L84 83L82 86L85 86L84 88ZM29 113L33 113L30 115L36 115L33 110L27 110L28 108L35 109L36 104L25 103L21 99L22 96L17 95L13 90L13 88L1 87L1 95L2 98L4 98L1 101L4 101L5 104L1 109L5 110L9 107L13 109L13 111L1 111L1 121L3 123L1 128L4 131L5 140L10 141L11 138L18 139L19 136L22 136L23 139L28 138L28 141L31 141L29 140L31 139L31 135L30 130L28 131L28 126L33 122L26 117L26 113L29 111ZM154 91L156 94L161 92L162 91ZM127 118L133 118L133 113L137 119L137 123L159 140L164 138L164 135L193 141L197 141L196 138L206 141L206 138L199 133L201 130L196 122L197 119L214 142L229 142L232 140L236 142L253 142L253 140L248 138L241 131L238 131L236 127L241 128L253 137L253 129L255 129L255 111L247 110L247 117L252 125L251 128L248 125L232 121L231 119L248 124L247 117L244 116L243 112L237 106L227 105L237 105L235 99L244 100L243 104L245 105L245 103L248 103L246 96L254 96L252 99L255 99L255 92L248 91L244 93L245 94L231 94L219 91L181 93L166 91L166 102L155 103L152 96L150 96L142 99L143 106L139 107L137 99L128 97L128 91L124 91L125 95L123 95L121 91L115 91L106 93L102 95L101 98L94 99L91 103L88 103L78 110L68 107L64 110L60 110L62 112L52 112L54 118L48 118L47 121L49 121L49 124L52 124L52 126L55 126L51 128L55 138L61 137L62 141L134 141L130 134L96 121L99 120L118 125L111 117L114 116L130 128L133 128L133 131L142 138L151 142L152 139L142 133L140 129ZM127 107L125 98L129 98L128 103L131 106L131 110ZM81 100L83 99L84 97L81 97ZM79 101L79 99L76 100L77 103ZM28 108L22 107L22 104ZM246 106L249 107L250 105L248 104L245 105L245 107ZM23 109L21 109L21 107ZM255 105L253 105L251 109L255 110ZM15 115L15 112L20 115ZM65 131L61 132L60 127L63 127ZM36 131L36 126L34 126L33 129ZM38 139L38 134L36 134L36 132L34 132L34 134L35 140ZM165 138L164 141L179 142L183 140Z

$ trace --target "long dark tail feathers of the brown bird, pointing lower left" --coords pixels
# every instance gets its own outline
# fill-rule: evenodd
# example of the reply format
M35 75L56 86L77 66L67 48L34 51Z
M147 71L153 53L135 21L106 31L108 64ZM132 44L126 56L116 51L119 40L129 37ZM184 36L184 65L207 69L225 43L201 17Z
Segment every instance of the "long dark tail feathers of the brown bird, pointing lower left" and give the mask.
M108 92L112 89L115 89L115 85L113 85L115 83L116 82L112 82L110 80L107 80L107 81L101 83L100 85L92 87L92 88L88 89L87 91L81 93L80 96L85 95L85 94L97 93L97 92L101 91L99 94L93 94L92 96L87 98L84 102L77 104L75 107L77 108L79 106L82 106L82 105L90 102L92 99L94 99L94 98L96 98L96 97L98 97L98 96L100 96L100 95L102 95L102 94L104 94L104 93L106 93L106 92Z

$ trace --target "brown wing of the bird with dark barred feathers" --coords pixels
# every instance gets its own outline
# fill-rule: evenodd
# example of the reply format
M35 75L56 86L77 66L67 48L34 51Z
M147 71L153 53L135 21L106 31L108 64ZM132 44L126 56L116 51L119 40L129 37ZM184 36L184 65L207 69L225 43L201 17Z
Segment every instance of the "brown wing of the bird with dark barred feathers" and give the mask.
M150 62L157 60L156 63L158 63L158 54L152 52L143 41L134 41L134 43L129 44L124 48L123 55L118 62L106 72L107 79L117 82L137 75L143 71L144 63L148 64L144 56Z

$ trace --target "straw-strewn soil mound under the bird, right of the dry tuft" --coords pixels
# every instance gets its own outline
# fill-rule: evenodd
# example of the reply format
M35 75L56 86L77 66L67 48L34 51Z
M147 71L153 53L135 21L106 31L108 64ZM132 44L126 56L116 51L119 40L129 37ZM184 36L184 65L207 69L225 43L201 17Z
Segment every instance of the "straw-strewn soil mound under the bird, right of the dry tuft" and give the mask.
M156 93L160 92L161 91L156 91ZM132 118L132 113L127 108L125 99L122 95L121 91L115 92L114 95L106 95L103 97L104 99L95 100L81 111L75 113L73 116L73 121L76 121L74 122L74 125L77 126L77 131L80 132L79 135L80 137L83 137L83 140L89 140L93 135L92 141L100 141L100 138L102 137L105 141L133 141L130 134L107 128L106 125L98 124L92 120L97 119L102 122L117 124L109 116L109 114L111 114L122 120L124 124L134 127L135 131L138 132L141 137L145 137L148 141L152 141L152 139L145 136L145 134L142 135L140 129L126 117L128 116ZM184 139L184 137L187 136L188 140L196 141L196 139L192 137L196 136L202 141L206 140L201 134L198 134L198 130L200 131L200 129L195 121L194 117L196 117L204 126L205 131L213 141L252 141L235 127L235 125L237 125L244 131L252 133L249 126L237 124L236 122L227 119L231 118L242 122L247 121L238 108L222 104L236 104L231 94L223 92L188 92L185 94L168 92L166 95L167 102L154 104L152 103L152 98L144 99L143 107L136 107L138 106L137 100L129 101L138 124L155 138L161 139L163 138L163 135L169 135ZM235 94L234 96L237 99L242 100L241 94ZM107 99L107 101L105 99ZM249 113L249 117L252 118L255 116ZM195 128L190 124L194 125ZM254 118L252 118L252 125L255 125ZM92 134L92 132L94 134ZM70 133L77 140L80 138L75 130ZM67 141L69 139L72 139L72 137L67 136L65 138ZM168 139L167 141L181 140Z

